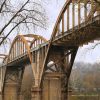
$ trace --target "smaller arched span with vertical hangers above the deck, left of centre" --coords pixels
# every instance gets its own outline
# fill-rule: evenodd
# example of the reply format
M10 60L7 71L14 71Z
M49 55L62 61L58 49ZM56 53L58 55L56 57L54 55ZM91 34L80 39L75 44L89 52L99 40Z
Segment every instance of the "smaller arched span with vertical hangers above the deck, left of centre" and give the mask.
M32 60L31 49L37 47L39 44L46 42L47 40L39 35L27 34L18 35L15 37L8 56L4 59L4 63L9 63L15 59L19 59L22 55L27 55Z

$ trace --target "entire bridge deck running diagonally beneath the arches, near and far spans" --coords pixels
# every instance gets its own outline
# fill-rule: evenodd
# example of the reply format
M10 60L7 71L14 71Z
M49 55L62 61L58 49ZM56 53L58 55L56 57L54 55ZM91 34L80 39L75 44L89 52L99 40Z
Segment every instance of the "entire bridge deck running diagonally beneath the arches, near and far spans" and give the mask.
M92 28L92 29L91 29ZM94 30L93 30L94 29ZM68 30L67 32L64 32L63 35L58 35L53 41L53 45L62 45L62 46L76 46L76 45L83 45L84 43L88 43L89 41L92 41L95 39L100 38L100 15L94 17L92 20L90 20L88 23L82 23L79 26L74 27L73 29ZM35 48L31 49L31 53L35 52L45 46L47 46L49 43L45 42L40 45L38 45ZM7 64L3 64L3 66L13 66L16 65L16 63L21 64L21 62L29 61L27 57L27 52L16 57L12 61L8 62Z

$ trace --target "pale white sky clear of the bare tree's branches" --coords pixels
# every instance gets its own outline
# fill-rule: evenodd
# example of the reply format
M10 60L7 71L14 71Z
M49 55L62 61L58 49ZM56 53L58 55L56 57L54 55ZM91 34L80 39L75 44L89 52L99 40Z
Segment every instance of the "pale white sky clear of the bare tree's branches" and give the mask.
M63 7L64 2L65 2L65 0L50 0L50 1L47 0L47 2L43 3L43 5L46 9L47 16L49 18L48 19L48 27L47 27L47 30L36 30L35 31L36 34L40 34L40 35L44 36L46 39L50 38L54 24L57 19L57 16L60 13L60 10ZM87 50L87 48L90 48L91 45L94 45L94 44L89 44L88 46L81 47L78 50L75 61L84 61L84 62L90 62L90 63L99 61L100 46L97 46L93 50Z

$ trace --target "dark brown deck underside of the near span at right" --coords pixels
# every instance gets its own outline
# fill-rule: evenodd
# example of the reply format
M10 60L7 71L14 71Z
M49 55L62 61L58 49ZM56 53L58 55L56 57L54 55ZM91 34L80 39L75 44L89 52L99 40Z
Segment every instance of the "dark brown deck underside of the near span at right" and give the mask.
M63 34L63 35L62 35ZM79 46L100 38L100 15L56 36L53 45Z

